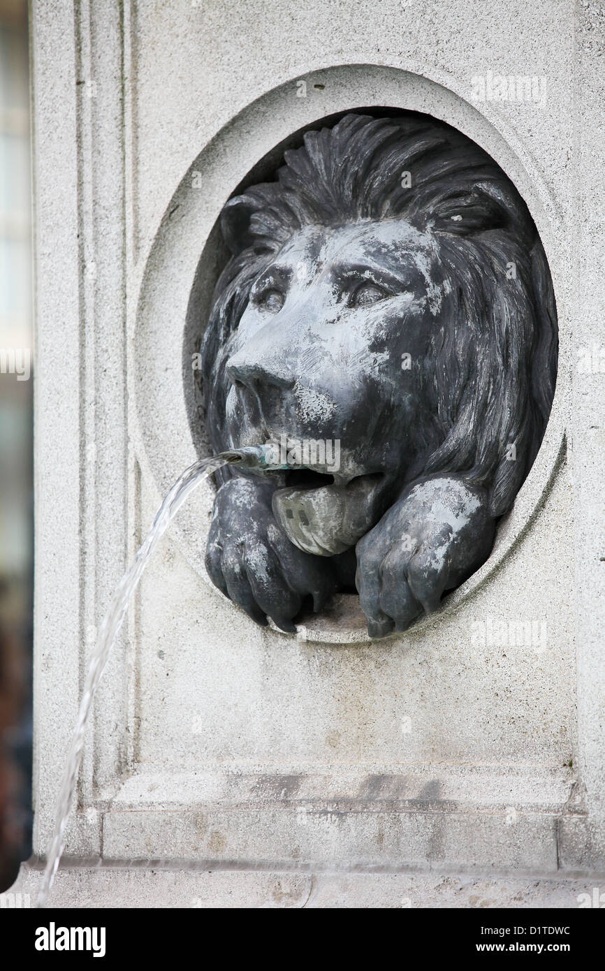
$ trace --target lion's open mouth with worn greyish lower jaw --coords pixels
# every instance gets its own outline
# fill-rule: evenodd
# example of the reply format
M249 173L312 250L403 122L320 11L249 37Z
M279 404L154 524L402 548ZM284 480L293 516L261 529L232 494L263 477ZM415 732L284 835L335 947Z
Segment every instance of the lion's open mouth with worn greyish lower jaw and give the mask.
M316 556L345 552L381 515L382 473L359 475L348 482L306 468L283 475L285 485L273 495L273 512L289 540L304 552Z

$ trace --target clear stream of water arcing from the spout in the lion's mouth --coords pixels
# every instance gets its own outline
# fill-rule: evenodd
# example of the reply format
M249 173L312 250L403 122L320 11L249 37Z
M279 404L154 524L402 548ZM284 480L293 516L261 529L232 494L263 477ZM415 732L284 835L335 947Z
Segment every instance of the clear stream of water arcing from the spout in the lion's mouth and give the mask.
M171 520L174 519L181 509L186 497L204 479L208 478L213 472L216 472L222 465L226 465L227 463L239 463L249 467L270 468L272 467L270 456L271 452L265 446L251 447L241 449L237 452L221 452L215 458L203 458L198 462L194 462L188 469L185 469L183 475L172 486L170 492L159 507L155 514L155 519L153 519L151 524L151 529L145 537L139 552L137 552L134 560L120 580L114 594L114 599L101 624L92 657L90 658L90 666L86 674L84 692L78 711L78 720L76 721L76 727L74 728L74 734L72 735L65 769L63 770L61 779L61 787L56 805L54 832L47 854L44 880L36 901L37 907L44 907L46 905L50 887L52 887L54 875L63 851L63 835L78 782L84 748L84 735L94 694L118 636L118 630L121 627L122 620L126 616L132 595L148 564L151 553L170 525Z

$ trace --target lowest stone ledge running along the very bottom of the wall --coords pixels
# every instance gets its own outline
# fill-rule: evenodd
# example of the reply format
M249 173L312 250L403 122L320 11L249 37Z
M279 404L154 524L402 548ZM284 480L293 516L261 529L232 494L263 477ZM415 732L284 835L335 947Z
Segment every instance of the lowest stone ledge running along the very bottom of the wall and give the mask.
M32 906L43 864L23 863L7 906ZM303 873L133 866L68 861L56 875L53 908L553 908L594 906L600 877L455 873ZM12 895L12 897L11 897ZM20 896L19 896L20 895ZM603 897L605 899L605 896Z

